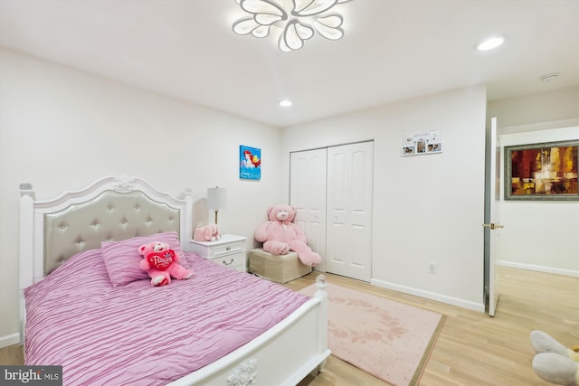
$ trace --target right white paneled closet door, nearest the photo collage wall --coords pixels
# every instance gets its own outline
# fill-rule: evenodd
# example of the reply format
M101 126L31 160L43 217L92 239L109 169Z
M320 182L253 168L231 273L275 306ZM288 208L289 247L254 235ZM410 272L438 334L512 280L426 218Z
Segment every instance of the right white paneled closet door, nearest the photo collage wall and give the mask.
M327 148L326 270L370 281L374 143Z

